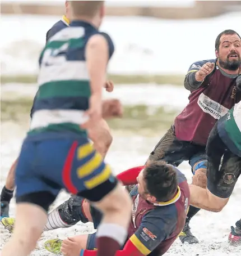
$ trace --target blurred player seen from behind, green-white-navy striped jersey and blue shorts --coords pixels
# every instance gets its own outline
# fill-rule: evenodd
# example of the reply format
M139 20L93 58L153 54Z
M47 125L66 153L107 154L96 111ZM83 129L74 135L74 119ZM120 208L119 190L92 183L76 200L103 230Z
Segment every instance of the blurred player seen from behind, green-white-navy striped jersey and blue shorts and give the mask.
M34 250L62 188L104 214L98 256L114 256L126 240L131 199L87 138L101 120L101 92L114 52L110 37L98 30L104 13L104 1L71 1L72 23L41 52L39 92L16 168L16 224L2 256Z

